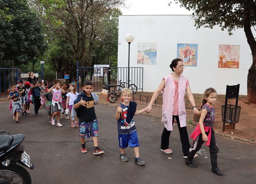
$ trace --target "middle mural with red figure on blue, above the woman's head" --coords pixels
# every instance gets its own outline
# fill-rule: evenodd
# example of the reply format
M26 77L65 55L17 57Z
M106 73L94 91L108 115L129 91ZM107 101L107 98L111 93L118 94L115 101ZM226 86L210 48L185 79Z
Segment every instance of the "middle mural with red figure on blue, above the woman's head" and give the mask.
M177 58L185 66L197 66L198 44L177 44Z

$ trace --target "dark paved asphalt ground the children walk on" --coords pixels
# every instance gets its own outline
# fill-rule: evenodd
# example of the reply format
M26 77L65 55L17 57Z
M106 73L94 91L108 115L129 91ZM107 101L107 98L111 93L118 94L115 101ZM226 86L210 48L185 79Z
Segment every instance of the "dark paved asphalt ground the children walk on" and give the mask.
M140 156L146 162L134 164L134 151L126 149L129 162L119 158L116 108L104 104L95 106L99 122L99 147L105 154L93 155L93 139L87 140L87 153L80 151L79 128L70 127L70 120L61 119L63 127L48 121L45 109L33 116L31 106L28 116L20 117L20 123L12 120L10 103L0 103L1 130L9 134L24 134L23 145L35 165L28 169L33 184L162 184L162 183L217 183L252 184L256 181L256 146L216 136L219 147L219 176L211 171L209 148L203 144L194 159L197 168L190 168L183 158L179 131L174 126L170 136L172 154L160 151L163 123L159 119L139 114L134 117L137 127ZM188 134L193 128L188 128ZM192 139L190 144L192 144ZM171 157L172 159L168 159Z

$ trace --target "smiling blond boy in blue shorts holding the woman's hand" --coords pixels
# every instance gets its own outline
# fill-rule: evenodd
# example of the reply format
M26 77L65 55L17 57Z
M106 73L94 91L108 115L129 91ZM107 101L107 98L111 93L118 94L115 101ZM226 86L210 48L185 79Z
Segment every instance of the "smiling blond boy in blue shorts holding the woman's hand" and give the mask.
M137 104L135 102L130 102L132 98L132 91L130 89L124 88L121 97L124 102L117 106L115 115L118 127L119 147L121 151L120 159L123 162L128 161L128 158L125 155L125 148L127 148L129 144L129 147L133 147L135 152L134 163L144 165L145 162L139 156L140 144L133 116L144 112L145 109L136 110Z

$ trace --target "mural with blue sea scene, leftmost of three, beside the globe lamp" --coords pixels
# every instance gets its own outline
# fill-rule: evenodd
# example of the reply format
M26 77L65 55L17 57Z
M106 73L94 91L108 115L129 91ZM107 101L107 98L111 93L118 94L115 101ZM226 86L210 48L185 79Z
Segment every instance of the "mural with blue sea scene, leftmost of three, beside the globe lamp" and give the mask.
M137 64L156 65L157 43L138 43Z

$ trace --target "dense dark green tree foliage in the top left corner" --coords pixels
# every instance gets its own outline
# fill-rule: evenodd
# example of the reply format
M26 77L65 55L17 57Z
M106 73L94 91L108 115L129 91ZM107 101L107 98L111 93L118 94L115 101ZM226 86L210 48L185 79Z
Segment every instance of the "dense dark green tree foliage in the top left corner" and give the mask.
M38 15L26 0L0 0L0 10L0 60L35 62L45 49Z

